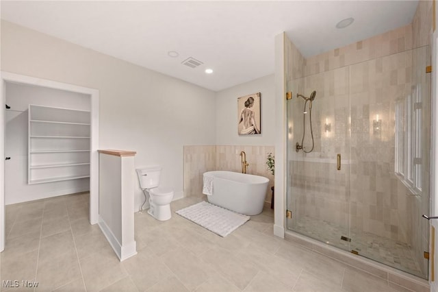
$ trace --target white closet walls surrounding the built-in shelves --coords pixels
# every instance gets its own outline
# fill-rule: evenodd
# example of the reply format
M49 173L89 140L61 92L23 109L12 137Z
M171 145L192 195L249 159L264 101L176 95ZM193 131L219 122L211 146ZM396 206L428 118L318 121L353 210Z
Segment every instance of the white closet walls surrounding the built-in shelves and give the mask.
M27 184L27 126L29 104L90 110L90 96L40 86L6 84L5 111L5 204L79 193L90 189L90 180L65 180L44 184Z

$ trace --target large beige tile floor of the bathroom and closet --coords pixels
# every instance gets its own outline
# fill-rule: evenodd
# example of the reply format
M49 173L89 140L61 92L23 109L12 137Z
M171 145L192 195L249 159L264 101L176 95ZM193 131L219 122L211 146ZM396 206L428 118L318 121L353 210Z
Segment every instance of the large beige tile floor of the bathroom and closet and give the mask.
M89 224L88 200L6 206L1 291L408 291L273 236L270 209L225 238L176 214L160 222L138 212L138 254L120 263ZM172 211L199 201L179 199Z

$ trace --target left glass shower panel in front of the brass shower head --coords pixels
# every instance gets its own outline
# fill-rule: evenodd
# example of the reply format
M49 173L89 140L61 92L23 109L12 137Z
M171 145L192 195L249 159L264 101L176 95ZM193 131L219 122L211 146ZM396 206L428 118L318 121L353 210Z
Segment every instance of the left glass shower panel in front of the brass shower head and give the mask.
M348 67L291 80L287 101L287 228L344 250L350 250L348 82Z

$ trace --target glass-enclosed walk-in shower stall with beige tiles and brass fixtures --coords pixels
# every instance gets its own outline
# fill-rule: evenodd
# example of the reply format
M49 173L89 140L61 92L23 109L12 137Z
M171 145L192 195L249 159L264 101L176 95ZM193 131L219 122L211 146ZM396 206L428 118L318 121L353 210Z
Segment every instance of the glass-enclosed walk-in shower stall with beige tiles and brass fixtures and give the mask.
M308 60L285 43L286 227L427 279L430 51L398 39Z

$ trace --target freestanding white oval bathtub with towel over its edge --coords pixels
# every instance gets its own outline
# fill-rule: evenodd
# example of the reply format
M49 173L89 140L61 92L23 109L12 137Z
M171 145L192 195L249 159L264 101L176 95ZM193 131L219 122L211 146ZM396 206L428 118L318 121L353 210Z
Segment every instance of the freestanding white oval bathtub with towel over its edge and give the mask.
M213 194L208 202L244 215L257 215L263 210L268 178L233 171L207 171L213 177Z

